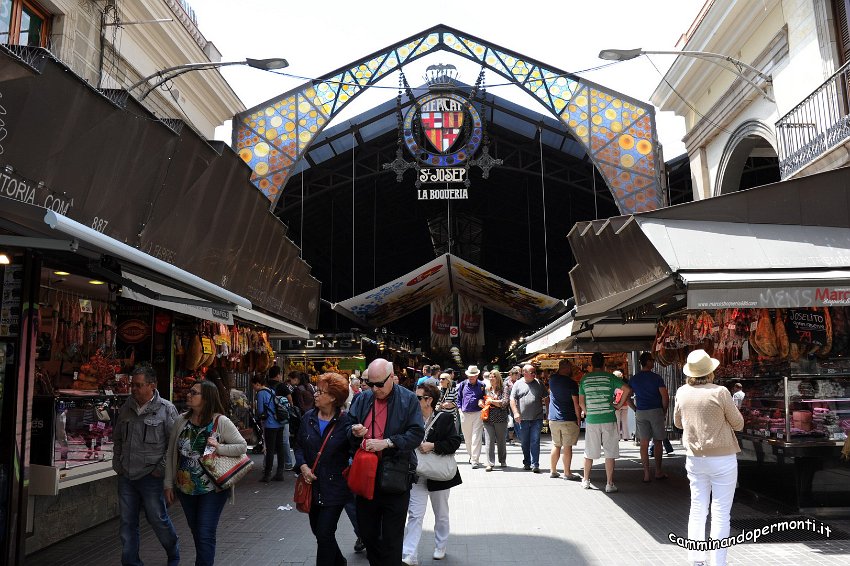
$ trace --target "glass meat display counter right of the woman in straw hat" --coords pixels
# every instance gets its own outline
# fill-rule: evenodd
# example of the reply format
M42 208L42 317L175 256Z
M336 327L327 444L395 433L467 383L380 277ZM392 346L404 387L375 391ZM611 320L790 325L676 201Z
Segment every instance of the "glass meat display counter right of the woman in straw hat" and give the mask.
M739 487L821 515L850 513L850 374L791 374L741 383Z

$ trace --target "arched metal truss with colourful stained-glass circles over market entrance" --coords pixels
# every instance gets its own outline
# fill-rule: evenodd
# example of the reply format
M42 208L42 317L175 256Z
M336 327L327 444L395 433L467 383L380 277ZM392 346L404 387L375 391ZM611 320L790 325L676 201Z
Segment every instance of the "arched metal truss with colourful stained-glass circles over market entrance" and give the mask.
M388 74L440 50L505 77L558 118L586 148L621 213L662 205L651 105L438 25L234 117L234 147L271 208L310 144L337 113Z

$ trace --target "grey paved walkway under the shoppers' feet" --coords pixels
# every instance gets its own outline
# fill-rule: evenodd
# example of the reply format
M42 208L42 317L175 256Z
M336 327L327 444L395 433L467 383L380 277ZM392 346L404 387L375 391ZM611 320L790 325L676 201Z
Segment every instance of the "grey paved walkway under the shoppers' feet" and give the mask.
M582 441L574 451L573 469L582 462ZM522 470L519 446L508 447L508 468L485 472L472 470L463 446L457 453L463 485L452 490L451 537L446 559L433 561L433 515L425 518L419 564L687 564L685 550L671 544L668 533L687 534L688 482L681 447L664 462L670 478L641 482L638 451L621 442L615 483L619 493L606 494L602 461L591 474L595 489L584 490L579 482L549 477L549 442L543 437L543 472ZM259 463L259 456L254 457ZM259 483L260 472L238 486L236 502L227 505L218 529L217 563L251 566L308 565L315 563L315 539L306 515L295 509L281 510L292 502L294 480ZM775 517L776 510L738 494L732 518ZM194 563L192 537L179 505L172 518L180 534L183 564ZM777 518L778 520L778 518ZM164 553L147 523L142 531L142 558L148 565L163 564ZM850 521L827 520L834 529L850 533ZM733 530L733 535L737 531ZM337 540L349 564L366 566L363 554L355 554L354 534L343 514ZM27 558L32 566L119 565L121 545L117 519L55 544ZM850 563L850 540L796 543L759 543L733 546L733 565L803 565ZM396 565L388 565L396 566Z

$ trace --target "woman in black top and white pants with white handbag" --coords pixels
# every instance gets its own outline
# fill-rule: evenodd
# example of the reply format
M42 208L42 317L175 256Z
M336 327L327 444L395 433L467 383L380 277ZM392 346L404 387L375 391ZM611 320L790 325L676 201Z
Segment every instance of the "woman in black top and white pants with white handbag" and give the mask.
M430 384L417 387L416 396L425 421L427 434L419 450L437 454L454 454L461 436L455 428L451 413L435 412L434 407L440 400L440 391ZM460 485L460 471L448 481L429 480L418 477L410 490L410 504L407 508L407 527L404 530L404 548L402 562L410 566L418 564L419 539L422 538L422 521L428 508L428 499L434 511L434 560L446 556L446 544L449 540L449 490Z

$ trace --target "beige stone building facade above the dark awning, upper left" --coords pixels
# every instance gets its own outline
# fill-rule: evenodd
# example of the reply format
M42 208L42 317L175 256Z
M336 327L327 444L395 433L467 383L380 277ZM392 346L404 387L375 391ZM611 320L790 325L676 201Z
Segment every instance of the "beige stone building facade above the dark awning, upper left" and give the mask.
M186 0L10 0L0 7L0 43L47 48L99 90L126 89L175 65L221 61ZM217 70L169 81L145 105L207 139L245 109Z

